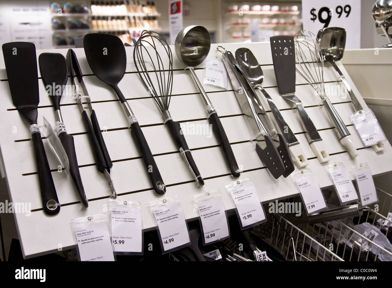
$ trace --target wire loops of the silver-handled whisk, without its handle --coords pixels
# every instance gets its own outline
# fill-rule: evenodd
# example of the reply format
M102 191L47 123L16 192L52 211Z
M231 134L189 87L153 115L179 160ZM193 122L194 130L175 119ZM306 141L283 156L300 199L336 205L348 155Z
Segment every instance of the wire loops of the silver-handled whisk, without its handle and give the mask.
M316 90L321 99L327 98L324 87L324 60L316 35L307 30L294 36L296 71Z

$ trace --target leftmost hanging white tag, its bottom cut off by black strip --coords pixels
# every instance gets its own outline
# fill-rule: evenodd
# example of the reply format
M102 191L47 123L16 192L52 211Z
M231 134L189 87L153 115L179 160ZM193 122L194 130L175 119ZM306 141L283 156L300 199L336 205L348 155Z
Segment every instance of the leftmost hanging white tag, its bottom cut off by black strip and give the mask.
M78 225L75 235L81 261L114 261L107 222Z

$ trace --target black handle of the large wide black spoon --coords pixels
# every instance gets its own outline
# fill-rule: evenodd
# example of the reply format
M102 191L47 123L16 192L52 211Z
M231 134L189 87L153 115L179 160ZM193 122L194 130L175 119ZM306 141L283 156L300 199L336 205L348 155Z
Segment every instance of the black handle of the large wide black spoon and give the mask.
M139 123L134 122L131 125L131 133L132 136L134 136L136 143L138 143L138 147L144 161L144 166L149 174L154 191L157 194L165 194L166 187L163 184L161 174L159 173L158 167L156 166L154 157L152 156L150 147L147 144Z

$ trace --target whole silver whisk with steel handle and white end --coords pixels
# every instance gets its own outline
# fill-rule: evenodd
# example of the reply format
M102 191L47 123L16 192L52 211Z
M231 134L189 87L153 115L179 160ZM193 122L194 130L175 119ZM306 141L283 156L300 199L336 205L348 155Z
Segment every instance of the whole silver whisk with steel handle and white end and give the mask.
M317 92L328 117L334 125L340 143L347 148L350 155L355 158L358 152L352 141L352 136L335 107L325 94L324 87L324 61L316 35L302 30L294 36L296 51L296 71Z

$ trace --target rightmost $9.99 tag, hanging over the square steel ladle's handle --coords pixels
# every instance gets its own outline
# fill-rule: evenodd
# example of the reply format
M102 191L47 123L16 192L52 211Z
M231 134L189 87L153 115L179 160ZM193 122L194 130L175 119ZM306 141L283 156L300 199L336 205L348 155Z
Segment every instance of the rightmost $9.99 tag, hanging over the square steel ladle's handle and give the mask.
M372 110L364 109L354 113L351 116L351 122L354 124L365 147L385 140L384 132Z

